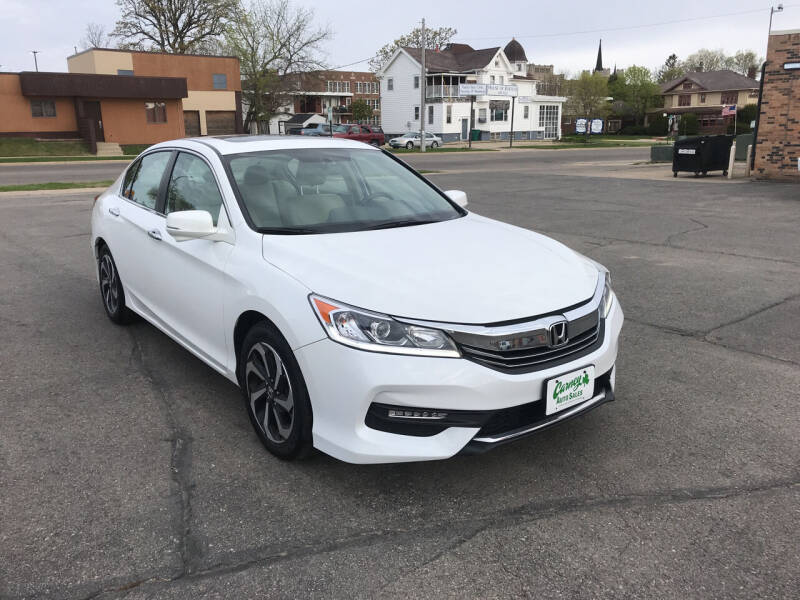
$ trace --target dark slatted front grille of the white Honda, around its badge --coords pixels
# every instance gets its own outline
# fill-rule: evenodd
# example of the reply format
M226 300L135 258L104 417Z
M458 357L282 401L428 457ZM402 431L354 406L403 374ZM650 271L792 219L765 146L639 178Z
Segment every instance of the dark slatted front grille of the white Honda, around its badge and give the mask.
M593 313L596 315L597 313ZM464 358L504 373L529 373L554 367L590 354L603 343L604 319L593 319L588 329L570 334L569 341L558 348L536 346L522 350L488 350L460 343ZM573 323L568 330L575 329Z

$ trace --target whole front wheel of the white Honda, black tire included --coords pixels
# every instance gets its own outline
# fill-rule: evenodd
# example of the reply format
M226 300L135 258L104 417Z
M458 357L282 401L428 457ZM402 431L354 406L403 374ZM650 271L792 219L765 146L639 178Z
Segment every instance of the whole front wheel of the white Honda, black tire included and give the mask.
M282 460L309 456L311 401L294 353L275 326L263 321L247 333L238 377L245 410L264 447Z

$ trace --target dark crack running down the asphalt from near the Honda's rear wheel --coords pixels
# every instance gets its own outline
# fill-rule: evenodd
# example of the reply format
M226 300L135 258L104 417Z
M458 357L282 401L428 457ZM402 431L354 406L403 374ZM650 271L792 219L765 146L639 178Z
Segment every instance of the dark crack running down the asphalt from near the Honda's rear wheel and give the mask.
M177 534L179 554L181 558L180 576L191 573L197 558L197 544L192 537L191 518L192 518L192 494L194 483L191 478L192 468L192 436L191 433L180 423L178 411L170 398L167 384L156 375L145 360L142 344L133 328L128 328L133 347L131 349L131 359L139 367L147 381L150 383L154 392L164 407L167 427L170 431L168 441L172 446L170 458L170 477L178 488L178 506L176 507L174 518L174 529Z

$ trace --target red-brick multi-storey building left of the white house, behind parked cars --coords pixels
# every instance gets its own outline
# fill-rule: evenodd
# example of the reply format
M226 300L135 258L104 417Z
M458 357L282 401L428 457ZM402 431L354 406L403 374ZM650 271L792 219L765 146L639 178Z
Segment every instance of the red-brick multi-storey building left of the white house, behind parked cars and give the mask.
M328 118L331 108L334 123L350 123L354 100L365 100L372 117L363 121L380 125L380 84L374 73L364 71L311 71L286 76L288 103L270 121L270 133L284 133L284 122L295 115L317 114Z

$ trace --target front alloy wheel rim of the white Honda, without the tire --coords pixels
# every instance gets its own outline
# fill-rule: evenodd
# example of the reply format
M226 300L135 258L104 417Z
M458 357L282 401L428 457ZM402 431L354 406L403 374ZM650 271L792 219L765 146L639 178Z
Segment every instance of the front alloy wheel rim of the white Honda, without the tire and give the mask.
M275 348L258 342L250 349L245 383L259 428L271 442L284 443L294 427L294 399L286 366Z

